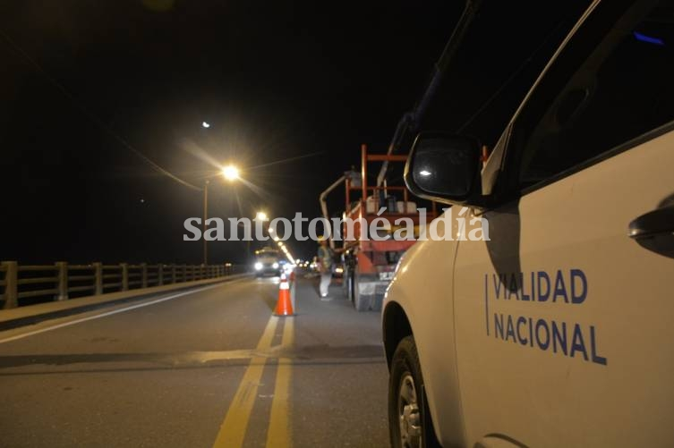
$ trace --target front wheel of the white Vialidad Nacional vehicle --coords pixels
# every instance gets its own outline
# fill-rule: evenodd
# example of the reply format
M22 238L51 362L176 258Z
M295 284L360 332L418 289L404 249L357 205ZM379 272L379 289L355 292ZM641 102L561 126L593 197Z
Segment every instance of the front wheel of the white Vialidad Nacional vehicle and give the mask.
M413 336L397 345L388 380L388 433L393 448L439 448Z

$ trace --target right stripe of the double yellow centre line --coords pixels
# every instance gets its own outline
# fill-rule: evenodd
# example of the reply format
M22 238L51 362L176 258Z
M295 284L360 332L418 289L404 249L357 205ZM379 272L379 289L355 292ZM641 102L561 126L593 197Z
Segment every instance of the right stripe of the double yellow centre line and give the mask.
M294 318L286 318L281 344L289 347L294 343ZM277 378L274 385L274 399L271 402L267 448L289 448L290 437L290 376L292 363L289 358L278 359Z

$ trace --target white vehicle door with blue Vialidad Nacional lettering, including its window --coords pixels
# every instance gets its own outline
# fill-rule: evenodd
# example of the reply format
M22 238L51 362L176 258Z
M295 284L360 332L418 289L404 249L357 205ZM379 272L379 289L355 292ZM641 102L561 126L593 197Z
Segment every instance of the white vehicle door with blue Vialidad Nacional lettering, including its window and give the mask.
M600 5L576 31L511 124L491 241L459 243L469 444L674 444L674 23L657 6Z

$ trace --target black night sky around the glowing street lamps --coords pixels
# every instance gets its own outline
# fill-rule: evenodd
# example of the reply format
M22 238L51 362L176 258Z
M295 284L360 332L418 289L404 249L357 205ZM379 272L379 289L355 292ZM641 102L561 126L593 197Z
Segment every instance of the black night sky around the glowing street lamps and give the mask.
M511 23L480 40L479 57L466 54L475 70L453 72L454 82L480 96L460 96L454 119L471 116L477 107L466 98L481 104L540 45L535 32L550 30L560 8L543 6L533 11L533 34ZM193 185L210 179L210 216L252 217L257 209L319 216L320 191L358 165L361 143L386 151L462 9L462 2L2 2L0 258L200 262L201 243L183 242L183 221L201 215L201 192L137 152ZM486 53L502 59L499 71ZM503 121L511 109L487 116ZM215 164L227 162L255 188L218 178ZM314 244L290 248L308 258ZM244 247L211 243L210 259L243 262Z

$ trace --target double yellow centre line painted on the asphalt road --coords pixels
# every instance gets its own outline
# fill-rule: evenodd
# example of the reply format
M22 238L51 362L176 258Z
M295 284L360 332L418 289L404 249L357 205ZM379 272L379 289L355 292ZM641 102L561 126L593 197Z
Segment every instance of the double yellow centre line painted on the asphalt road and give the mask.
M267 351L271 348L274 334L278 325L278 317L272 316L260 337L256 351ZM281 346L287 347L294 342L294 318L286 318L283 328ZM236 390L232 404L227 410L225 420L220 426L218 437L213 444L214 448L243 447L243 439L251 418L252 407L255 404L260 379L264 371L267 358L253 356L251 363L243 374L243 379ZM267 430L267 446L269 448L289 448L290 420L288 410L290 405L290 377L291 359L278 359L277 377L274 385L274 398L271 402L269 428Z

